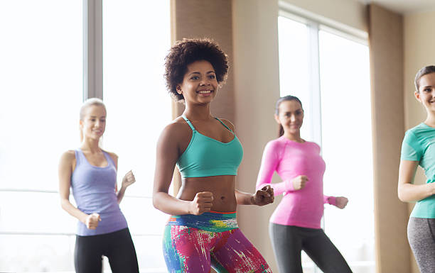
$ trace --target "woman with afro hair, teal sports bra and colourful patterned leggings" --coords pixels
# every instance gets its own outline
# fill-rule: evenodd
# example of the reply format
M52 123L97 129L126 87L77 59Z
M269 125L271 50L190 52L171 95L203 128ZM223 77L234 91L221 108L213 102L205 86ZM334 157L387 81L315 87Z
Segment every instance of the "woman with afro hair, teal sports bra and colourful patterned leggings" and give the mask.
M225 82L228 57L209 39L178 41L166 56L169 93L186 110L157 143L153 204L171 217L163 233L168 272L272 272L237 226L237 205L264 206L272 188L235 189L243 150L230 121L215 118L210 103ZM182 185L168 194L175 166Z

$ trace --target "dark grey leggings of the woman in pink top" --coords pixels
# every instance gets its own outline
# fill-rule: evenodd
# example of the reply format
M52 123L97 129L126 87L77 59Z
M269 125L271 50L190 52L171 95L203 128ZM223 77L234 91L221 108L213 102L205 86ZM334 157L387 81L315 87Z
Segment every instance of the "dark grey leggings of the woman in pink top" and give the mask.
M321 229L269 223L280 273L302 273L301 250L324 273L352 273L348 263Z

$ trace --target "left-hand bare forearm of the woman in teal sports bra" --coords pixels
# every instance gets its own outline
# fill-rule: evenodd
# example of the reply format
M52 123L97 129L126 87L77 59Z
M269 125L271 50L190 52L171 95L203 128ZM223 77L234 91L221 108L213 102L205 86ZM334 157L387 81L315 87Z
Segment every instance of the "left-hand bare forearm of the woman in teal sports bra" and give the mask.
M154 208L167 214L191 214L189 211L189 204L190 201L177 199L165 192L157 192L153 195Z

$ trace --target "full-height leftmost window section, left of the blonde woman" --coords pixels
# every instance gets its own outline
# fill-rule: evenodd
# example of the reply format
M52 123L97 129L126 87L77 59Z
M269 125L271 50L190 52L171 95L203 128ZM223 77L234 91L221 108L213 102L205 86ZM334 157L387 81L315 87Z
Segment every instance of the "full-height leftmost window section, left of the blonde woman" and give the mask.
M80 143L82 1L0 1L0 272L73 268L58 161ZM55 11L55 12L53 12Z

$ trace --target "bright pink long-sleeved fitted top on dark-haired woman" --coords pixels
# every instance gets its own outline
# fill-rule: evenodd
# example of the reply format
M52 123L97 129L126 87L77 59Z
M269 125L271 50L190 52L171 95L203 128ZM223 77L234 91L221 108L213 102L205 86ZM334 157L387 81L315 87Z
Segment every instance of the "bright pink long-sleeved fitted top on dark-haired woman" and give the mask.
M274 172L283 182L271 184ZM284 194L270 221L280 225L321 228L323 204L335 204L335 197L323 195L325 162L313 142L297 143L281 136L267 143L257 178L257 189L271 185L274 194ZM306 175L304 189L295 190L292 179Z

